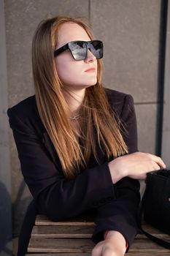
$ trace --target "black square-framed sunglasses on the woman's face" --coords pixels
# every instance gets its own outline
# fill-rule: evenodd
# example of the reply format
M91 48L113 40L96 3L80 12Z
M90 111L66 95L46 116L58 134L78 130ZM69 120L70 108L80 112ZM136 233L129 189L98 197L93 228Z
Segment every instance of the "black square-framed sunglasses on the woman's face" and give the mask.
M103 48L103 43L98 40L89 42L73 41L68 42L66 45L63 45L61 48L55 50L54 56L58 56L58 54L63 53L64 50L69 49L76 61L82 61L83 59L87 58L88 50L90 50L96 59L101 59L103 57Z

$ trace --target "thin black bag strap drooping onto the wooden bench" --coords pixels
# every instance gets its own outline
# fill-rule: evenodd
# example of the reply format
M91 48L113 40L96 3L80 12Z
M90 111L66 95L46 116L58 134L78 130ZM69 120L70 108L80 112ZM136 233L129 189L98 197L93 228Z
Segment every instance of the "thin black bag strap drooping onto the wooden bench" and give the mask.
M145 196L145 193L142 197L141 203L139 204L139 214L138 214L139 229L142 231L142 233L144 233L145 236L150 238L150 240L154 241L156 244L159 244L159 245L163 246L166 249L170 249L170 242L165 241L165 240L163 240L161 238L158 238L156 236L152 236L150 233L147 233L147 231L143 230L143 228L142 228L142 214L143 214L143 211L144 211L144 196Z

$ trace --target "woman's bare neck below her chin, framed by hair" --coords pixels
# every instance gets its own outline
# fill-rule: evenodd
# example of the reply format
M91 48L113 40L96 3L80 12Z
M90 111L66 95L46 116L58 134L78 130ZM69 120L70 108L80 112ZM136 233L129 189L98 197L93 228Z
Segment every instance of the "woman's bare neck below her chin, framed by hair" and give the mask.
M63 92L66 102L69 105L72 116L76 116L79 113L80 105L85 97L85 89L81 90L67 90Z

